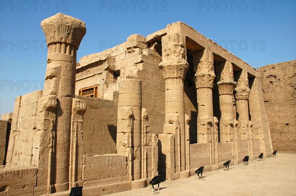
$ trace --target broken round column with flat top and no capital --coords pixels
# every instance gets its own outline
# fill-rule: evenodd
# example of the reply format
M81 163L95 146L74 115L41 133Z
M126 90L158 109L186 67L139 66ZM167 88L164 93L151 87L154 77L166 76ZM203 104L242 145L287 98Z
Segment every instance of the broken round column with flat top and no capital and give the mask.
M117 154L128 157L131 180L142 177L142 81L120 78L118 81Z

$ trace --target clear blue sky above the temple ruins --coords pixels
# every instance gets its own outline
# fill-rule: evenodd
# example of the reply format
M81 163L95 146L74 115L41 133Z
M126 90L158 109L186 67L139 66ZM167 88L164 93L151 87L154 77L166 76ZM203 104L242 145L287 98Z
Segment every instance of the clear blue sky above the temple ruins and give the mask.
M58 12L86 23L81 57L131 34L182 21L258 68L296 59L295 0L0 0L0 114L42 88L46 44L40 22Z

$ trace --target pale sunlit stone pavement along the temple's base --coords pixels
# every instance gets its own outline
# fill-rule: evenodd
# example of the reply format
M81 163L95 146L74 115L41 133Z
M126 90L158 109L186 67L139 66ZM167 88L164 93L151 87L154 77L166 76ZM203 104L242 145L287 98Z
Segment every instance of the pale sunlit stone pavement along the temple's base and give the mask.
M196 175L166 181L152 194L151 186L110 194L110 196L296 196L296 154L277 153L277 157L248 165L231 165L228 171L205 172L204 180Z

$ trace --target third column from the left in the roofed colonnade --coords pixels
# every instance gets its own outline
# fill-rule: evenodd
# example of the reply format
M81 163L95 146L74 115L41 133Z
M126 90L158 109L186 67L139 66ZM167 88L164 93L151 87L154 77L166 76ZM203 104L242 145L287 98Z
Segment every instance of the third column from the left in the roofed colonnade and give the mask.
M220 100L220 142L230 142L233 131L233 90L236 82L233 81L232 64L225 62L220 81L217 83Z

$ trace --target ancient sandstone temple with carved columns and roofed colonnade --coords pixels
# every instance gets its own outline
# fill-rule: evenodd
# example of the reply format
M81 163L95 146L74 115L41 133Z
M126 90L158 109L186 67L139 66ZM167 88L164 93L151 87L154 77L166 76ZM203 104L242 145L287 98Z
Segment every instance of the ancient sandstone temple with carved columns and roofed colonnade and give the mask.
M1 121L0 196L104 195L271 155L256 69L184 23L79 63L85 23L59 13L41 27L45 85Z

